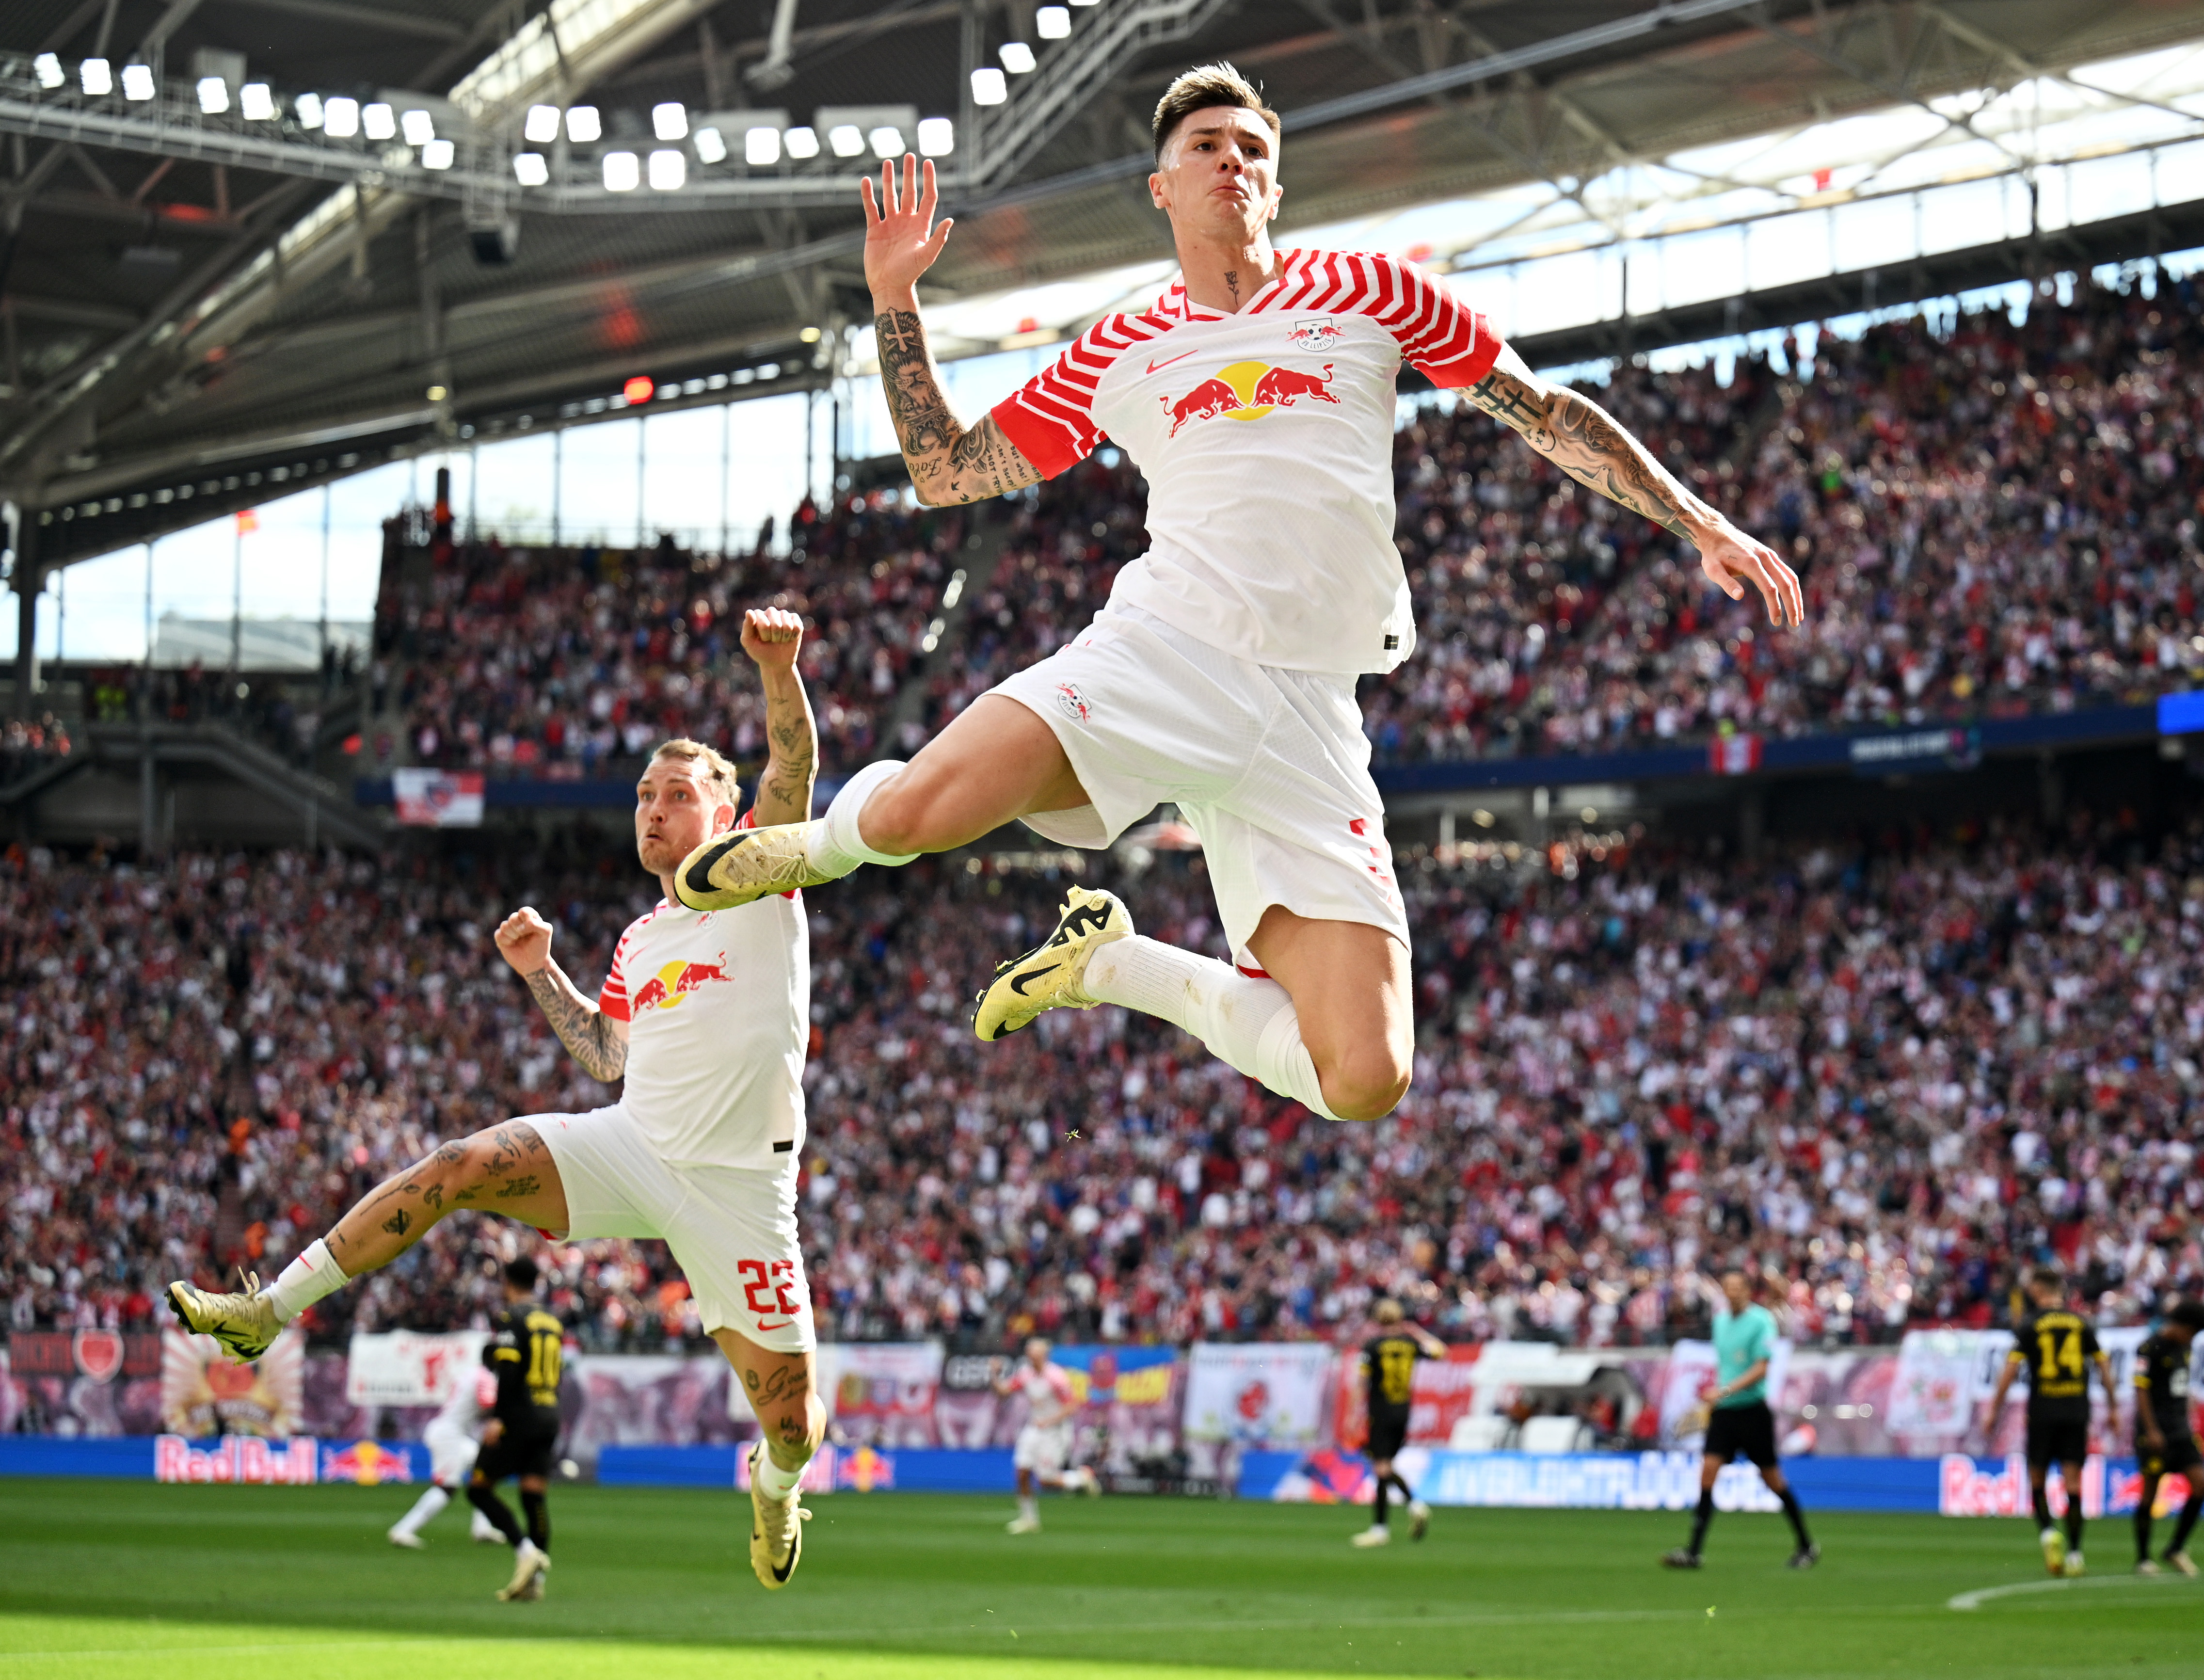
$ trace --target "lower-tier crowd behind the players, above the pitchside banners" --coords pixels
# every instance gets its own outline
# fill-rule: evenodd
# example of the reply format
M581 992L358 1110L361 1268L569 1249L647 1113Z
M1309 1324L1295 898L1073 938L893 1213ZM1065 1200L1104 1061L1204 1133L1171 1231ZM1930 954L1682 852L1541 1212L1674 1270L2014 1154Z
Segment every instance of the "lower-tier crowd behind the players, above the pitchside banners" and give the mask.
M148 1321L161 1279L278 1268L436 1138L606 1100L489 928L536 902L588 983L644 906L617 851L7 853L11 1323ZM972 1043L976 979L1051 915L1045 853L811 893L827 1334L1298 1338L1400 1292L1450 1336L1649 1343L1743 1257L1792 1279L1801 1340L1889 1340L1999 1318L2048 1252L2109 1318L2204 1283L2204 816L1754 866L1640 844L1574 880L1527 855L1404 858L1417 1080L1373 1127L1120 1010ZM1221 950L1197 860L1089 871ZM309 1329L463 1323L522 1241L458 1215ZM555 1270L591 1347L696 1329L657 1243Z

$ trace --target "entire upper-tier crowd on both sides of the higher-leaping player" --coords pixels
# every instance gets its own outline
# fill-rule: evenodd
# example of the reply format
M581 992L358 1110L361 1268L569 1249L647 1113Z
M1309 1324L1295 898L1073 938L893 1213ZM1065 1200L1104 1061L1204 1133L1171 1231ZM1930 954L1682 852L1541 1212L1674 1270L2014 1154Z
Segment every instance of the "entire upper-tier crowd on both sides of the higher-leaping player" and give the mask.
M1697 556L1446 397L1395 434L1397 545L1419 646L1362 686L1380 761L1798 734L2118 703L2204 670L2197 509L2204 342L2193 280L2078 284L2003 309L1823 335L1812 377L1739 359L1618 368L1598 397L1807 584L1770 631ZM1792 373L1798 373L1794 357ZM950 575L990 520L957 657L921 668ZM714 670L734 600L831 633L807 675L849 763L908 752L1062 646L1146 549L1146 489L1115 450L990 514L893 494L809 503L791 564L760 549L461 549L386 597L379 694L419 763L593 774L652 734L756 741ZM983 545L992 549L992 542ZM952 637L957 631L952 631ZM906 725L884 725L906 681ZM377 706L377 710L381 710ZM624 767L624 765L622 765Z

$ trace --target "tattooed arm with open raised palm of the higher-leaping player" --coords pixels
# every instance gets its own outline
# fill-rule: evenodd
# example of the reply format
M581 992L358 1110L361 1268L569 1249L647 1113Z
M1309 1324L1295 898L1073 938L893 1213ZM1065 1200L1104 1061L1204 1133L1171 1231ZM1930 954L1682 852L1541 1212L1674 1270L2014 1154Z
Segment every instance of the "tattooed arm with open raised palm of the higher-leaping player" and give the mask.
M919 276L932 267L954 223L934 225L934 165L923 172L904 157L879 168L879 196L864 183L864 278L873 287L873 333L879 340L879 384L888 395L895 439L910 483L928 507L952 507L1038 485L1040 472L1003 437L994 417L959 426L941 395L941 375L919 324Z

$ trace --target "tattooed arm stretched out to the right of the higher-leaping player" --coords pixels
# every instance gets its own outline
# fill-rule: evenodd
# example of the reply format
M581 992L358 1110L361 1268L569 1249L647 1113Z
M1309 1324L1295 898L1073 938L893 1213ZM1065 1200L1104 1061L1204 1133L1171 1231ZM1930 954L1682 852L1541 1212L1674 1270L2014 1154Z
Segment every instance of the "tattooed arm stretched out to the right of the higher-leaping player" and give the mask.
M1783 558L1693 496L1596 401L1541 379L1512 348L1466 395L1578 483L1695 545L1699 569L1724 595L1743 600L1750 582L1772 622L1805 624L1798 575Z

